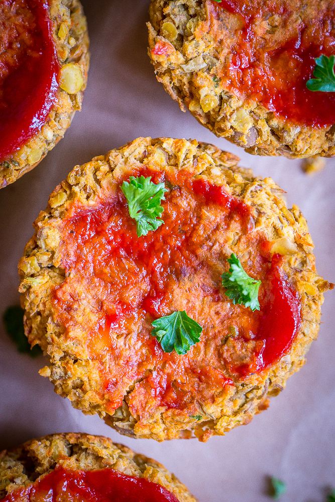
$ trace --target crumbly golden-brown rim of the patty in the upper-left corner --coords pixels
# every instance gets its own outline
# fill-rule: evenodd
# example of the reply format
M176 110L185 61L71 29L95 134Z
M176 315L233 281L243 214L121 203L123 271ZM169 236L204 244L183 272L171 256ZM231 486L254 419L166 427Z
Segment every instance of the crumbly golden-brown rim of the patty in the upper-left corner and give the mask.
M33 169L63 138L76 111L81 109L89 67L86 18L79 0L49 0L50 19L61 68L69 63L77 65L83 76L81 89L70 94L58 88L56 102L51 108L41 132L30 139L19 151L0 163L0 188Z

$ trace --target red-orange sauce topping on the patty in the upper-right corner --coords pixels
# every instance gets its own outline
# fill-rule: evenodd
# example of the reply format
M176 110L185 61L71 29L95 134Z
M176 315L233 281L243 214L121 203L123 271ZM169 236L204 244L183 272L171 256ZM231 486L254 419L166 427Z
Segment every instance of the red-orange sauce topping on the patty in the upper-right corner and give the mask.
M236 32L232 58L221 74L231 92L256 100L291 123L327 127L335 123L335 93L312 92L306 82L313 78L315 58L335 54L334 5L318 3L308 19L305 6L285 0L209 0L209 13L219 19L227 10L238 14L243 27ZM301 16L295 24L295 11ZM280 16L285 37L271 45L266 42L266 21ZM276 24L276 23L275 23ZM263 27L262 27L263 25ZM263 31L262 31L263 30Z

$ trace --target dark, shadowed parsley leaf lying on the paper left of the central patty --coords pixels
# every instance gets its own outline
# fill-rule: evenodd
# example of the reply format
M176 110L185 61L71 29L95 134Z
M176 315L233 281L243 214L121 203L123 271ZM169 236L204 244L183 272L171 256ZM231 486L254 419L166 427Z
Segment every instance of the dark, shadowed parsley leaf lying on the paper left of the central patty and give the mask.
M12 340L16 343L19 352L28 352L32 357L36 357L42 354L42 350L39 345L34 345L34 347L30 349L30 344L25 335L23 326L24 313L25 311L19 307L19 305L8 307L4 314L5 328Z

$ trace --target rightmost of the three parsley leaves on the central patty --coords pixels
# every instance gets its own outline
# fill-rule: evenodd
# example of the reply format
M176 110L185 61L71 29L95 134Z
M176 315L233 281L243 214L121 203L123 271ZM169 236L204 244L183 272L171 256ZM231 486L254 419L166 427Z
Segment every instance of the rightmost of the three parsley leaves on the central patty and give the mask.
M243 303L251 310L259 310L258 290L261 281L256 281L244 271L240 260L234 253L228 259L230 269L221 275L222 286L226 288L226 295L236 303Z

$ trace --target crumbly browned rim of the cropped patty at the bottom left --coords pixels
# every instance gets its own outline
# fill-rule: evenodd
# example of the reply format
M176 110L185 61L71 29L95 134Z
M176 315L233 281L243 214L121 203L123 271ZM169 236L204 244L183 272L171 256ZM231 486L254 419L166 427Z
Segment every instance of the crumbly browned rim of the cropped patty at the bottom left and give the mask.
M77 470L109 467L160 484L180 502L196 502L186 486L156 460L103 436L82 433L51 434L0 452L0 500L13 490L31 485L57 465Z

